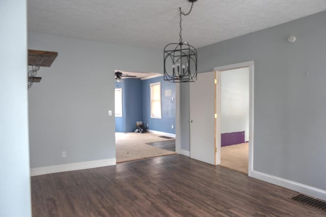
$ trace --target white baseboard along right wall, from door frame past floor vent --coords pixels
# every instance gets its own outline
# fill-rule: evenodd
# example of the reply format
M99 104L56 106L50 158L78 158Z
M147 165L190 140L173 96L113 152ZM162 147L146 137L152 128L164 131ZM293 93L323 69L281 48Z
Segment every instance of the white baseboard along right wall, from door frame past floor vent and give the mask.
M257 178L272 184L279 185L286 189L291 189L296 192L300 192L305 195L309 195L315 198L319 198L321 200L326 200L326 191L311 187L306 184L298 183L295 181L291 181L288 179L280 178L274 175L268 175L265 173L261 173L258 171L252 171L252 177Z

